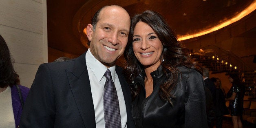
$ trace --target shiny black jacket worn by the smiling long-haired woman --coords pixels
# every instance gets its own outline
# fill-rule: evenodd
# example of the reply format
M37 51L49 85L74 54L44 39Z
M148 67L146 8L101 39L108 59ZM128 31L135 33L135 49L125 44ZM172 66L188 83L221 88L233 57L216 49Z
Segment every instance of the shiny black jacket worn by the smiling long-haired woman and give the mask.
M137 128L207 128L205 91L202 75L194 69L180 66L179 83L171 92L173 106L159 97L159 86L164 82L161 66L150 73L153 92L146 98L144 74L138 75L132 84L141 87L132 103L132 116Z

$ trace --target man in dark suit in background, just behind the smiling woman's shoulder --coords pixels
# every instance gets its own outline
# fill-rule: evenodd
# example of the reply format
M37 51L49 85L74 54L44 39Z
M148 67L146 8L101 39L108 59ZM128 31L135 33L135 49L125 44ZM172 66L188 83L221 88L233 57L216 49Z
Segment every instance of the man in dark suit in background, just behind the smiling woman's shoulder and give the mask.
M214 127L214 105L215 105L215 92L216 88L214 82L209 78L209 69L203 68L203 80L205 83L205 103L206 103L206 113L207 113L207 123L209 128Z

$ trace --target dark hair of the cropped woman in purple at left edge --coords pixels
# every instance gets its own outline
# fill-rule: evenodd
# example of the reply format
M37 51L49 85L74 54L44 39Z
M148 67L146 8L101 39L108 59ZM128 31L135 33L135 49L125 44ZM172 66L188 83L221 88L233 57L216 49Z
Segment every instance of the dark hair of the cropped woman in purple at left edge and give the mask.
M20 84L19 75L14 71L9 48L0 35L0 88Z

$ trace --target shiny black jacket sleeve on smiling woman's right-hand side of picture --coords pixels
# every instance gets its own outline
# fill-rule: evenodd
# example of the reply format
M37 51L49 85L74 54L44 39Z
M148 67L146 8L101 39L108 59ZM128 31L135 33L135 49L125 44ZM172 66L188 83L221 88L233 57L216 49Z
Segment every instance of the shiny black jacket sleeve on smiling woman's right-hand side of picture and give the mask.
M184 79L185 80L185 79ZM203 77L192 70L187 78L185 94L185 128L207 128Z

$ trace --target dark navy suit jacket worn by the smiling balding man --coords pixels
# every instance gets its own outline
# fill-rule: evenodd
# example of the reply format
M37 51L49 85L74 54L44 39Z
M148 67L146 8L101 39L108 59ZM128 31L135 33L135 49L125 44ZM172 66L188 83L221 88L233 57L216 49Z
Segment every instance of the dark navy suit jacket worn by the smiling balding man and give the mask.
M20 128L96 127L85 54L66 62L39 66L26 99ZM125 99L127 126L133 128L130 88L119 66L116 72Z

